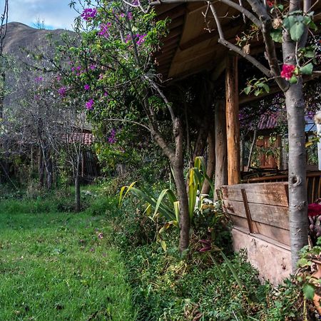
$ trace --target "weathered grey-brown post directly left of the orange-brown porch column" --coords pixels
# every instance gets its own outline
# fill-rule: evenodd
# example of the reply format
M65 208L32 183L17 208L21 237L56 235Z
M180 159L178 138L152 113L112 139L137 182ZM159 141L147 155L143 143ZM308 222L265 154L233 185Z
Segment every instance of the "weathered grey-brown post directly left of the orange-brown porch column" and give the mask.
M228 184L228 153L226 147L225 105L219 101L215 106L215 191ZM214 199L218 197L214 194Z

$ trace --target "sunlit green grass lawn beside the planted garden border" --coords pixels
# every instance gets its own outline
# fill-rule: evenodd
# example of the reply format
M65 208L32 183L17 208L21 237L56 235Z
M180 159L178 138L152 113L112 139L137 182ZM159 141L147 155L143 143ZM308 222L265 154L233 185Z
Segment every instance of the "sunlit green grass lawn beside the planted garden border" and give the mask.
M135 320L103 213L39 204L0 200L0 320Z

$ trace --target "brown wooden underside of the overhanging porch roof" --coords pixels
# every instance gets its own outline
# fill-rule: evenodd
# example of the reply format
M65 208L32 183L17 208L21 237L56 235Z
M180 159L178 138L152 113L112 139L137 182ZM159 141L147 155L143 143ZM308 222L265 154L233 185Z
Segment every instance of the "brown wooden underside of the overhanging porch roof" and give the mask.
M163 80L185 78L205 70L213 71L213 80L218 78L225 69L225 57L229 50L218 44L218 30L208 5L205 2L152 4L155 5L158 19L169 17L171 20L169 34L163 39L161 50L156 53L158 72L163 75ZM243 15L230 6L221 2L213 4L220 17L225 39L235 44L235 37L241 36L245 26L250 26L250 21L244 20ZM321 3L313 9L320 12ZM320 17L315 18L320 20ZM259 51L264 51L263 42L255 39L250 54Z

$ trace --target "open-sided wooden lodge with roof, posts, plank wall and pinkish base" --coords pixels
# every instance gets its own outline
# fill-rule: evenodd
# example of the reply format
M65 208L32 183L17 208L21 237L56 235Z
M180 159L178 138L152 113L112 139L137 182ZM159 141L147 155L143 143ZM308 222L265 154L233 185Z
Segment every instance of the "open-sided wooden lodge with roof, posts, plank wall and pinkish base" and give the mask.
M235 46L235 37L242 33L246 18L233 7L238 1L212 4L220 17L225 39L220 39L205 2L157 0L151 3L158 19L170 18L169 34L156 54L158 72L168 86L203 71L210 73L213 83L225 78L225 103L215 105L213 126L215 188L221 189L223 207L234 223L235 250L246 248L248 259L258 267L261 276L276 284L291 272L287 175L279 173L241 183L239 106L258 97L240 95L242 75L238 73L238 65L244 62L245 53L240 49L236 56L223 43ZM321 4L315 3L313 10L320 12ZM320 16L315 16L315 22L319 20ZM262 40L250 44L251 55L263 52ZM280 89L270 88L270 93L276 91ZM319 171L307 174L310 203L321 196L320 175Z

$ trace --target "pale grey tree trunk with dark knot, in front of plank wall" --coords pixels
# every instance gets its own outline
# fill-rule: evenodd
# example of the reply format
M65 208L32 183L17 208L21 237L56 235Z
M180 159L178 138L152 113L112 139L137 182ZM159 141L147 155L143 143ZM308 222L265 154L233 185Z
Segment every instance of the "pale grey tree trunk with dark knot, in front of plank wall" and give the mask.
M290 11L300 9L300 1L290 3ZM296 65L295 42L283 31L283 61ZM292 271L297 268L299 251L307 245L307 188L305 158L305 102L302 93L302 78L285 91L287 126L289 136L289 224L292 256Z

